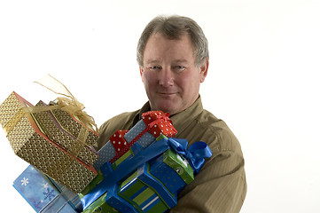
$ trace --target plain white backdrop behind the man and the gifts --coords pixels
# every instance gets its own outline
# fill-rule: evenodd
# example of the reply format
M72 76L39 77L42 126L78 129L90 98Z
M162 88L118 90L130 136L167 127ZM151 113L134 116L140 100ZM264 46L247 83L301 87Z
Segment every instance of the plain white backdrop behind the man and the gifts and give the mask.
M137 40L159 14L196 20L209 41L205 108L237 135L248 192L241 212L320 212L320 3L248 1L0 2L0 102L56 95L51 74L98 125L147 100ZM1 212L33 212L12 181L27 167L0 131Z

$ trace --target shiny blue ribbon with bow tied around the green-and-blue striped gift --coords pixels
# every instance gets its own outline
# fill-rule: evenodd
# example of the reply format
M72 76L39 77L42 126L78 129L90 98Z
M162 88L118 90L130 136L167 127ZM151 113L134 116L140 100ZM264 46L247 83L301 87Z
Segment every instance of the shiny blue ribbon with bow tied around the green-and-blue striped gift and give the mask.
M121 162L115 170L112 169L109 162L105 162L101 169L105 179L96 185L90 193L87 193L82 197L81 201L83 209L88 208L93 201L96 201L102 194L107 192L108 188L112 187L123 177L129 175L132 171L137 170L137 167L144 162L150 161L152 158L162 154L169 148L182 154L188 162L191 163L192 169L199 172L205 162L204 158L211 157L212 152L207 144L202 141L192 144L189 151L187 150L187 146L188 141L186 139L163 138L135 154L129 160Z

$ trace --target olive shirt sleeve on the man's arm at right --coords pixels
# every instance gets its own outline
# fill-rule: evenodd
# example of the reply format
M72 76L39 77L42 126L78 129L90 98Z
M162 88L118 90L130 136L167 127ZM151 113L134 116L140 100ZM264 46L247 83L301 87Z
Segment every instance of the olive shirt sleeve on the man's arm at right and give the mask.
M244 159L237 138L216 136L209 146L213 156L178 196L170 213L239 212L246 197ZM227 136L226 136L227 134Z

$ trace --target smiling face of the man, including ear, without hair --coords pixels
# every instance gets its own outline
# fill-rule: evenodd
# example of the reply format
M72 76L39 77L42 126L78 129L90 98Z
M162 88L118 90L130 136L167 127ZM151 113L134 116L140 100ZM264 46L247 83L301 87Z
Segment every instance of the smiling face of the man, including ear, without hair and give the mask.
M176 114L199 97L199 86L207 75L208 61L197 67L188 35L169 40L153 34L144 49L140 75L152 110Z

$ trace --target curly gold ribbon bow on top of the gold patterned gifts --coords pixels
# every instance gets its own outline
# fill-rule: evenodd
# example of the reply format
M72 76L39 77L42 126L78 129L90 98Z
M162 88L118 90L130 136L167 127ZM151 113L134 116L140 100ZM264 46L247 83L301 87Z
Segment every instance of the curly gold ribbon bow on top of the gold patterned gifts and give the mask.
M73 114L80 120L80 122L82 122L82 124L90 128L91 130L96 130L98 132L98 126L93 117L83 111L85 106L74 98L74 96L69 90L67 90L66 86L63 83L60 83L51 75L45 75L43 79L35 81L35 83L39 83L48 90L64 96L56 99L59 108L69 114ZM50 107L52 106L49 106L47 110L50 110Z

